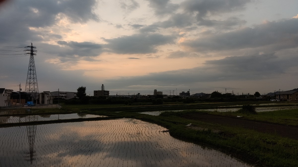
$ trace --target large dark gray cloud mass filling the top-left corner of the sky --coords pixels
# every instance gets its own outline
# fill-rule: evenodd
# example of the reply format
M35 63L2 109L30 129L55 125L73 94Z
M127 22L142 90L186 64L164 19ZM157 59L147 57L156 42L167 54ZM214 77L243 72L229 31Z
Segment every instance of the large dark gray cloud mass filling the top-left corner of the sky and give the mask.
M0 43L18 39L22 42L43 41L45 37L60 39L61 35L38 32L30 27L46 28L57 24L64 16L74 23L100 21L92 11L96 0L72 1L21 1L17 0L14 6L7 4L7 8L0 11L1 31ZM12 41L13 43L17 41Z

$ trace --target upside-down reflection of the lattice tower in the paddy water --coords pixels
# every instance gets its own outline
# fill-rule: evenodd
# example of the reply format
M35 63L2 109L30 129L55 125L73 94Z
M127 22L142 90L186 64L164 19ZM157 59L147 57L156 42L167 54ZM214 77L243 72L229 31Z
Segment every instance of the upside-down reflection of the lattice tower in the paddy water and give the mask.
M38 120L38 115L32 115L32 116L26 116L26 122L32 122ZM36 125L28 125L27 127L27 137L29 142L29 156L30 156L30 162L32 164L32 161L35 160L35 151L34 151L34 142L35 142L35 133L36 133Z

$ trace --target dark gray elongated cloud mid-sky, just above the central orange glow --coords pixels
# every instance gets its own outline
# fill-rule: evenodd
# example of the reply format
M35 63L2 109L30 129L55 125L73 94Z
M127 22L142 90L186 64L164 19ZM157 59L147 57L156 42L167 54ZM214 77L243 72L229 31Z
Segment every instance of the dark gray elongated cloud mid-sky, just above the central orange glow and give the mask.
M134 34L114 39L104 39L111 52L119 54L156 53L156 47L174 43L175 37L162 34Z

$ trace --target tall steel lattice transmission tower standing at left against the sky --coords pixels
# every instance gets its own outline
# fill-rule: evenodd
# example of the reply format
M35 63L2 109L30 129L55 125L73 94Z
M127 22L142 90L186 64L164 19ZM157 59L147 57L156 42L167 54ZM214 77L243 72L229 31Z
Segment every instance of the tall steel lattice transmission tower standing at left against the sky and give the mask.
M37 78L36 78L36 71L35 71L35 63L34 63L34 56L36 56L36 47L34 47L31 43L31 46L27 46L27 49L25 51L30 51L30 61L29 61L29 67L28 67L28 73L27 73L27 81L26 81L26 89L25 92L31 94L31 97L33 97L33 100L36 100L36 97L38 96L38 85L37 85ZM32 100L32 101L33 101Z

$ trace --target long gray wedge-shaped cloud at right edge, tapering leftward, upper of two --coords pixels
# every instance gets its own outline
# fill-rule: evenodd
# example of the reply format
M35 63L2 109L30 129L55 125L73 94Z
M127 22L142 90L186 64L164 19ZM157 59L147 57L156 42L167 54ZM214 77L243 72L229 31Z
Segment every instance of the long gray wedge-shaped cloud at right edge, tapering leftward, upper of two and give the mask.
M270 47L272 51L298 45L298 19L267 22L254 28L242 28L222 34L210 34L181 43L194 51L222 51Z

